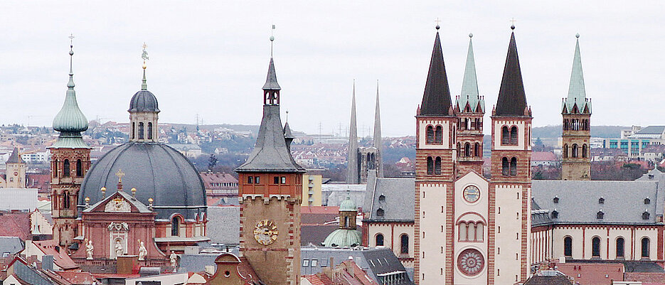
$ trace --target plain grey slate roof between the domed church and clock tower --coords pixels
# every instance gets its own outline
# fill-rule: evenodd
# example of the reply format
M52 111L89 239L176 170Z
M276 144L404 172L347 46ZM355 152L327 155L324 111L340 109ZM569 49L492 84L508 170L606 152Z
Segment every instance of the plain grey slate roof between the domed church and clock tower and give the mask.
M240 244L240 207L208 207L206 236L212 243Z

